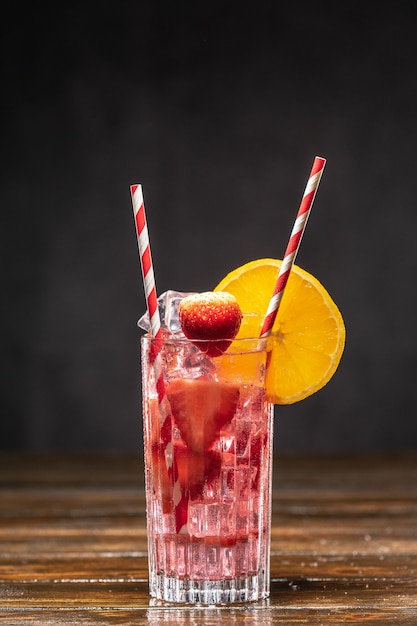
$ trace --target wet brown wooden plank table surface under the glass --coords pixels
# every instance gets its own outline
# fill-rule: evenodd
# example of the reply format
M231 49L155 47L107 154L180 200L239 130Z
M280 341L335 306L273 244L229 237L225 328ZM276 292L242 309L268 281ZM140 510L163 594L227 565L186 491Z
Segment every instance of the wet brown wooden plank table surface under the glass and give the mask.
M0 453L0 622L417 624L417 454L275 460L271 597L148 596L139 458Z

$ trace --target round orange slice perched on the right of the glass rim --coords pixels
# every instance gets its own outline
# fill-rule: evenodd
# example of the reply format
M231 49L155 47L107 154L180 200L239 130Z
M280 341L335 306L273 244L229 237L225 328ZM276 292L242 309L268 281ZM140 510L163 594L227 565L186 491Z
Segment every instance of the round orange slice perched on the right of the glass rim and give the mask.
M230 272L215 288L232 293L243 312L237 338L259 336L280 267L277 259L251 261ZM257 315L246 316L249 313ZM324 387L339 365L345 334L340 311L323 285L293 265L268 338L268 400L292 404Z

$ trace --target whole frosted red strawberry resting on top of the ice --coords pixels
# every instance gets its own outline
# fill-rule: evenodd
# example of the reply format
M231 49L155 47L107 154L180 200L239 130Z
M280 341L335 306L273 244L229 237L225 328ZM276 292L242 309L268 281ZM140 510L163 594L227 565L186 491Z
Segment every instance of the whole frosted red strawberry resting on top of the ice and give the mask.
M212 291L185 297L179 304L178 316L187 339L211 357L227 350L242 321L236 298Z

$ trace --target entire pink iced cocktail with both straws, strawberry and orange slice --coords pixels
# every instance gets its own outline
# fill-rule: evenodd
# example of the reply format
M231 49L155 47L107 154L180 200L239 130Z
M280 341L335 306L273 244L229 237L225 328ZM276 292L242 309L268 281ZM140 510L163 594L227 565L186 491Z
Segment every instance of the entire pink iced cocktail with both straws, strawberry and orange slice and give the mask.
M147 303L139 325L148 333L142 396L157 599L212 604L269 594L271 402L321 389L345 342L337 306L294 265L324 165L316 157L283 261L246 263L214 291L188 297L157 298L142 189L131 186Z

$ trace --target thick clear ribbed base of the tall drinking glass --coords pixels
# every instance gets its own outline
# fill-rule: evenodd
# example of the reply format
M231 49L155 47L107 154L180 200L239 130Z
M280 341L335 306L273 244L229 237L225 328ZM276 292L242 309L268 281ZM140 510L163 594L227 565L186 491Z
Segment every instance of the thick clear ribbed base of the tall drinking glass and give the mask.
M189 580L157 574L150 581L150 595L157 600L190 604L256 602L269 596L264 574L227 580Z

